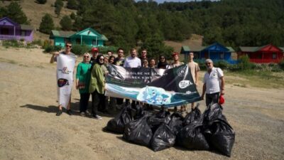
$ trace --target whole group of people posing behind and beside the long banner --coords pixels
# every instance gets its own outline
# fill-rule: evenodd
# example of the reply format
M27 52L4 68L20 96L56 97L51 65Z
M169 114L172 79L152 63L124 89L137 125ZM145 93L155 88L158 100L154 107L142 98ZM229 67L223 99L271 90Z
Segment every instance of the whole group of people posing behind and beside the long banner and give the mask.
M62 52L53 53L50 59L50 63L53 63L60 54L74 55L71 52L72 43L66 43L65 50ZM124 66L126 68L162 68L169 69L175 68L184 63L180 62L179 54L174 52L172 54L173 63L168 63L164 55L160 55L158 64L156 65L155 59L149 59L147 57L147 50L141 50L141 56L138 57L136 48L131 48L130 56L124 58L124 49L119 48L117 50L117 57L111 51L107 51L106 55L100 54L98 48L92 48L92 54L84 53L83 60L77 65L76 73L76 89L80 92L80 115L92 116L94 119L102 119L98 112L102 114L109 114L108 109L117 107L124 107L124 99L115 97L106 97L105 92L105 76L107 75L107 66L109 64ZM192 74L192 78L195 85L198 85L198 73L200 71L199 65L194 62L194 53L189 54L188 67ZM207 72L204 75L204 85L202 88L202 100L206 93L206 105L211 102L218 102L219 95L224 95L224 74L220 68L214 68L213 61L210 59L205 60ZM89 97L92 95L92 107L91 112L88 112ZM131 106L138 105L139 102L132 100ZM130 105L130 100L125 100L125 105ZM107 107L108 106L108 107ZM191 104L191 108L194 109L195 104ZM182 112L185 112L186 106L180 107ZM72 114L70 110L70 101L67 105L67 114ZM62 105L59 104L57 116L62 114Z

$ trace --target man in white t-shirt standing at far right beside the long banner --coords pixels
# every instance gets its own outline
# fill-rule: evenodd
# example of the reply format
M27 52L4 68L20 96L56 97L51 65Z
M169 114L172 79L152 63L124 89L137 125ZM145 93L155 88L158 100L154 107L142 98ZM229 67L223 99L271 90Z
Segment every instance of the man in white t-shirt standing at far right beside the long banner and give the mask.
M211 59L205 60L207 72L204 75L204 85L202 89L202 100L204 100L204 94L206 92L206 106L211 102L218 103L219 95L225 94L225 80L223 71L220 68L214 68L213 61Z

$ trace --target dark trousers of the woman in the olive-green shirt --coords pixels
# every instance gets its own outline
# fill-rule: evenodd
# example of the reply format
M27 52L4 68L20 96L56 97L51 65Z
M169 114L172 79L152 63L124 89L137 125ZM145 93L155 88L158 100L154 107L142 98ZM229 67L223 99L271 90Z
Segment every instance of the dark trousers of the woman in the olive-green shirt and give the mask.
M106 110L105 96L104 94L99 94L99 92L95 90L92 92L92 114L96 115L98 110Z

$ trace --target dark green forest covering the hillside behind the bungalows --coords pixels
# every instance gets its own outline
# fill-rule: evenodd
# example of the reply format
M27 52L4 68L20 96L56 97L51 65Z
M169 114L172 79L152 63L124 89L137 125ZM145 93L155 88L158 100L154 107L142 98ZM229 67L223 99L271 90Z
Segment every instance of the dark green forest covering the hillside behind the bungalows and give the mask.
M74 13L62 17L62 30L92 27L109 38L107 45L110 46L131 48L155 41L183 41L192 33L204 36L203 45L218 42L234 49L268 43L284 46L283 0L163 4L153 0L67 0L65 4L62 7L73 9ZM15 12L20 11L15 11L15 7L1 7L0 17L9 16L18 23L28 23L25 15L18 16Z

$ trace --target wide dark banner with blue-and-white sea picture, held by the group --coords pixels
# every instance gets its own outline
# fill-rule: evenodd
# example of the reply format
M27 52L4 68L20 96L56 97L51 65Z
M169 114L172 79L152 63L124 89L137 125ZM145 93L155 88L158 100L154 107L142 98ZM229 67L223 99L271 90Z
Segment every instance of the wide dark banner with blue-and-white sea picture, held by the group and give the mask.
M168 70L109 65L106 95L173 107L201 100L187 65Z

